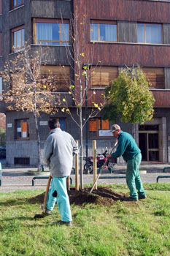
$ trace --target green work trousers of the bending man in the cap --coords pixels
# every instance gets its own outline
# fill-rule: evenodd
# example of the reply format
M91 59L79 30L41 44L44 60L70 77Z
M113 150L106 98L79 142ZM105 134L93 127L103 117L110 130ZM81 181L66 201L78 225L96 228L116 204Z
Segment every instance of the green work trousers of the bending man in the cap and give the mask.
M142 154L137 154L131 160L127 161L126 183L130 190L130 197L138 198L138 195L146 195L139 176L139 165L142 160ZM138 190L138 193L136 192Z

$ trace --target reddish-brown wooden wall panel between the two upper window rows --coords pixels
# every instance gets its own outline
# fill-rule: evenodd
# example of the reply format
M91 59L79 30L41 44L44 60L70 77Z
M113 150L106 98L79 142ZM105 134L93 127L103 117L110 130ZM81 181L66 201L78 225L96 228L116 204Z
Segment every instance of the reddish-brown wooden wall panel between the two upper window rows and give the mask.
M89 48L93 48L90 44ZM101 60L101 64L110 66L124 66L133 63L142 67L169 67L170 47L166 45L138 45L121 43L100 43L94 48L94 63Z

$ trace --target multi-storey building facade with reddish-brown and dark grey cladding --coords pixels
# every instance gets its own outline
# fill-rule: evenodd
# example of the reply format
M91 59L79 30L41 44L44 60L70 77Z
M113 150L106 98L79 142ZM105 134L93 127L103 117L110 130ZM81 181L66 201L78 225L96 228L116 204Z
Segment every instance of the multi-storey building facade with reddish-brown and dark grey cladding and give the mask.
M83 54L89 56L93 48L93 59L85 59L85 62L90 61L92 67L96 67L98 59L101 61L101 68L96 68L96 77L88 83L88 95L96 92L93 101L99 102L104 86L117 77L125 64L139 64L152 83L154 118L144 125L119 124L124 131L134 135L142 149L142 161L170 162L170 1L1 0L0 12L1 71L4 61L12 60L17 54L18 44L22 46L24 41L31 43L32 50L36 50L39 43L42 47L47 43L50 48L48 65L54 69L58 65L69 67L64 44L74 43L69 24L75 13L78 13L80 20L85 17L86 30L82 31L81 22L77 28L80 32L80 45L83 38L81 34L85 33ZM58 32L62 26L65 34L68 33L66 40ZM71 78L74 78L75 74L71 70L69 72ZM76 79L74 82L74 86L78 86ZM2 81L1 89L4 86ZM67 92L63 94L68 97ZM69 108L74 118L77 118L72 100ZM3 102L0 110L7 116L7 164L35 166L37 148L34 117L31 113L9 111ZM79 140L79 129L70 116L61 111L54 116L59 118L63 129L71 133L75 140ZM46 114L39 117L42 148L47 138L48 118ZM110 126L110 122L104 123L101 120L101 113L90 119L89 154L92 140L97 141L98 152L102 152L105 146L112 148L114 139L108 133ZM117 159L117 162L121 161L121 158Z

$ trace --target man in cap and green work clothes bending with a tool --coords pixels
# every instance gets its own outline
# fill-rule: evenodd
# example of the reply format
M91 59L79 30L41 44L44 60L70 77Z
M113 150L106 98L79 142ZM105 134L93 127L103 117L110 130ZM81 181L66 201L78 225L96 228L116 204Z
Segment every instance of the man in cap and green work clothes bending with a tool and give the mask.
M134 138L128 132L121 131L118 124L112 125L111 132L117 138L118 143L115 153L109 154L107 158L123 156L123 159L127 162L126 183L130 189L130 197L127 200L137 201L146 198L139 176L139 165L142 160L141 150L136 145Z

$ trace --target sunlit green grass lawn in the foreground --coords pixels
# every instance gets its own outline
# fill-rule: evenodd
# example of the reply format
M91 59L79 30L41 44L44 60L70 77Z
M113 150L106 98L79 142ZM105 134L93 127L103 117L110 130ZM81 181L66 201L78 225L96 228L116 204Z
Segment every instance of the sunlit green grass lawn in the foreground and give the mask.
M128 192L125 185L111 186ZM0 256L169 256L170 184L144 184L147 199L117 201L109 207L72 205L72 227L52 225L58 207L45 219L30 198L44 191L0 195Z

